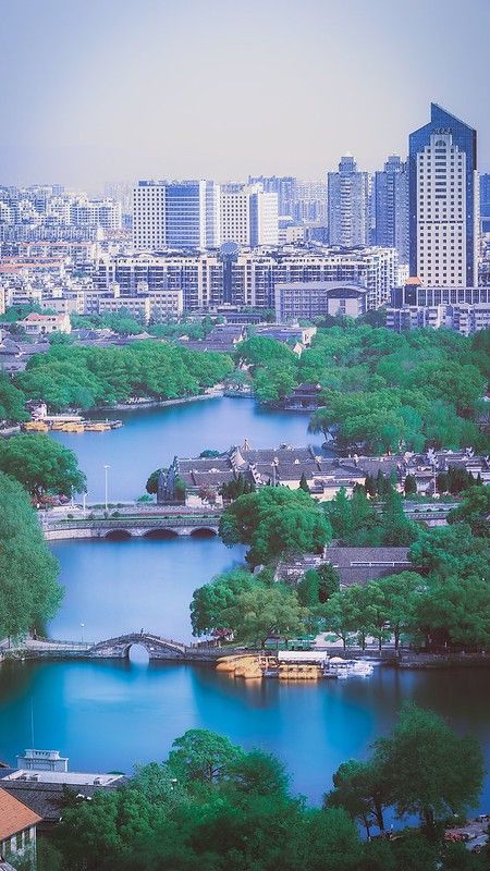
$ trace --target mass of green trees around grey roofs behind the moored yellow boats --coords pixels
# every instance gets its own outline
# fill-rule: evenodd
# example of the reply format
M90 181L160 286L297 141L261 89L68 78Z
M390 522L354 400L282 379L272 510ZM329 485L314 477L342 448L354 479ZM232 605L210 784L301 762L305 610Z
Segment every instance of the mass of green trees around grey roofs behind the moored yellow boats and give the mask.
M379 649L392 640L395 649L402 641L438 651L488 649L490 488L473 487L449 526L426 529L405 517L400 494L384 487L378 507L362 487L352 499L341 490L323 506L282 487L238 496L221 516L220 535L226 544L248 545L248 567L195 590L194 634L229 629L252 647L264 647L270 635L330 631L344 648L364 648L373 637ZM279 561L321 554L332 533L347 545L406 547L412 566L343 589L329 564L309 569L296 586L274 580Z

